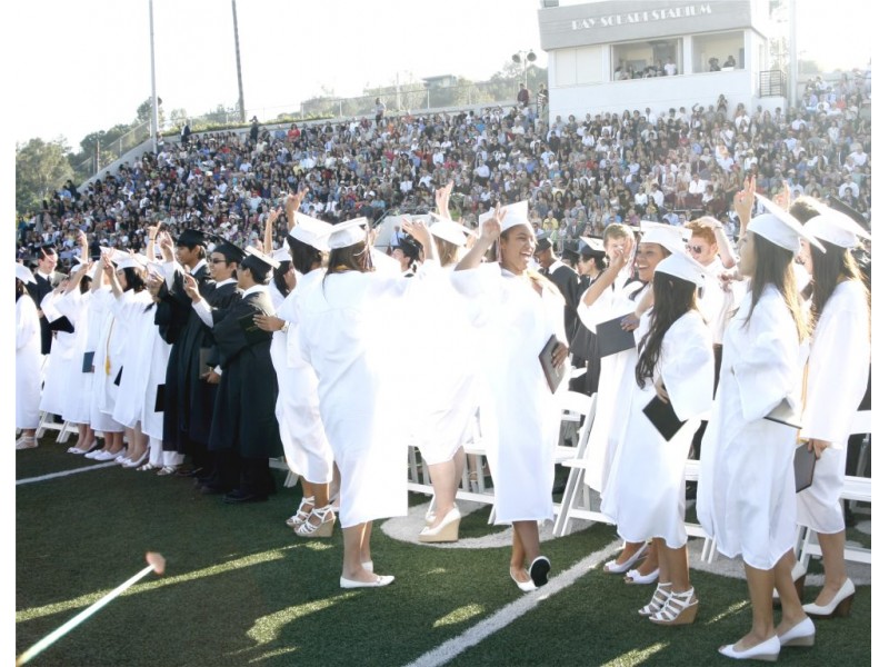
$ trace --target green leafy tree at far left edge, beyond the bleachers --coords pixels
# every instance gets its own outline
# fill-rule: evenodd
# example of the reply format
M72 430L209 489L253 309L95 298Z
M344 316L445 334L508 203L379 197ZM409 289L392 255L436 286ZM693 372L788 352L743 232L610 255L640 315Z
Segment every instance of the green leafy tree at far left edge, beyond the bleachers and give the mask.
M38 210L43 199L61 188L73 176L63 138L46 142L31 139L16 146L16 210Z

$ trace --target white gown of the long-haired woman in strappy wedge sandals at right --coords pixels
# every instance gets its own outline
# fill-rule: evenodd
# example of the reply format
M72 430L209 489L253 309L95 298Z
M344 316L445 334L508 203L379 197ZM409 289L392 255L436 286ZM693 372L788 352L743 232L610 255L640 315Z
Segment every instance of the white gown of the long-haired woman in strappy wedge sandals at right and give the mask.
M635 372L635 369L633 369ZM628 542L660 537L671 549L686 532L686 460L700 418L712 405L713 344L700 312L691 310L667 330L655 378L662 378L682 428L670 440L642 414L655 384L633 386L627 431L612 462L601 511Z

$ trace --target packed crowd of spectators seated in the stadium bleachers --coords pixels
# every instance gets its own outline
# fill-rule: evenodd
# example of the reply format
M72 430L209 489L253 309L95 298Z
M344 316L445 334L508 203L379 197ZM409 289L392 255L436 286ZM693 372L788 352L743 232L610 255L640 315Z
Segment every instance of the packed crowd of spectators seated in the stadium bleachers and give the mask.
M812 79L795 109L748 109L725 96L655 113L556 116L521 107L374 119L258 126L191 135L76 187L68 181L18 226L19 255L54 241L62 262L76 232L99 245L143 248L162 221L221 231L236 243L262 237L282 196L309 188L303 211L329 221L434 208L453 180L452 203L473 225L495 201L529 200L530 217L559 247L601 236L610 222L679 225L707 212L733 229L730 205L743 175L776 195L835 196L869 219L869 79ZM256 126L256 123L254 123ZM256 139L253 139L256 138ZM286 233L281 222L278 238Z

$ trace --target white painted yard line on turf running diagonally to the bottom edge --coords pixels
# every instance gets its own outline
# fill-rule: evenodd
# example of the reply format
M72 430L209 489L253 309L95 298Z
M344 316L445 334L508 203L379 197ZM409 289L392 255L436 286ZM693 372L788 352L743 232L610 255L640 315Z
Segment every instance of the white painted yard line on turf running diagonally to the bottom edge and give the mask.
M496 631L507 627L520 616L523 616L533 609L540 600L547 599L563 588L571 586L580 577L605 560L607 556L613 555L613 552L619 549L622 544L622 540L617 540L603 549L596 551L595 554L590 554L569 569L557 575L556 577L552 577L546 586L538 588L533 593L522 594L518 590L518 588L516 588L516 594L520 595L521 597L515 603L507 605L493 616L486 618L453 639L449 639L438 648L421 655L413 663L410 663L408 667L438 667L439 665L449 663L468 648L476 646L493 635ZM503 569L506 570L506 568ZM505 571L503 578L507 580L505 585L515 586L515 584L508 580L507 575L508 574Z

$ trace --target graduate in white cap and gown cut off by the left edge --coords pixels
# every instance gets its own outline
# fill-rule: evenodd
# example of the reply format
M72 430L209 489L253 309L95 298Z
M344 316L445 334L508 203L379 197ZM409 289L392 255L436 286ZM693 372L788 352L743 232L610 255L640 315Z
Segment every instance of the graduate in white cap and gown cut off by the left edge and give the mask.
M16 265L16 449L37 447L40 422L40 319L24 286L36 282L28 267Z

